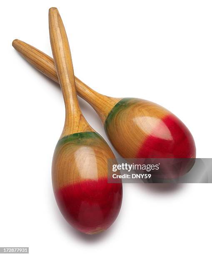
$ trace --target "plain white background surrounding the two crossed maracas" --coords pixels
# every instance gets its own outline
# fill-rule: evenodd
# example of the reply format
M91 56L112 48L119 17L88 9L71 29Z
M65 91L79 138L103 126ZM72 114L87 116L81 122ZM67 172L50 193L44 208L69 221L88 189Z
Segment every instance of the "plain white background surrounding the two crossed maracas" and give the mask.
M197 157L212 157L210 0L4 1L0 246L29 246L33 256L211 255L211 184L165 191L124 184L120 215L97 236L82 235L63 219L51 184L52 154L65 118L62 94L12 48L18 38L52 56L52 6L65 24L77 77L102 94L164 106L190 129ZM81 99L80 106L107 140L94 110Z

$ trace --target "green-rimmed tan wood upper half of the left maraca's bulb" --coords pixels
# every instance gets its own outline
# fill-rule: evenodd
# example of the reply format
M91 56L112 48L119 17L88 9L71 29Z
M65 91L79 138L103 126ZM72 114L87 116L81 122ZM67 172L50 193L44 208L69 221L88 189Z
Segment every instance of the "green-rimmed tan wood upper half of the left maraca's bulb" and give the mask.
M55 189L87 179L107 179L107 161L114 158L98 133L74 133L63 137L57 143L52 161Z

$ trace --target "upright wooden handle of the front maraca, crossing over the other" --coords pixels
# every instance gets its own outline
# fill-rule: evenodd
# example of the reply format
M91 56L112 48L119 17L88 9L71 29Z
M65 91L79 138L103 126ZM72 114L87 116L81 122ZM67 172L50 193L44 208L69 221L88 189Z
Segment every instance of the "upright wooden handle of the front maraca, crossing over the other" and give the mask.
M65 102L65 125L61 137L72 133L93 131L80 111L70 47L57 8L49 10L49 32L57 76Z

